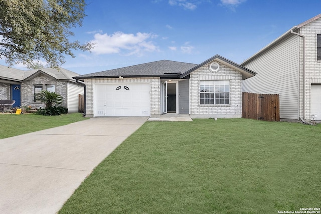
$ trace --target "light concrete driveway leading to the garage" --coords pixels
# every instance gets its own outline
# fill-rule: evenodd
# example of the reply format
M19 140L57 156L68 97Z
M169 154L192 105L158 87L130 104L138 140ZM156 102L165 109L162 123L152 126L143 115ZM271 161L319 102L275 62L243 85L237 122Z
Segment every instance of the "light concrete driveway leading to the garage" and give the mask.
M0 213L56 213L147 119L91 118L0 140Z

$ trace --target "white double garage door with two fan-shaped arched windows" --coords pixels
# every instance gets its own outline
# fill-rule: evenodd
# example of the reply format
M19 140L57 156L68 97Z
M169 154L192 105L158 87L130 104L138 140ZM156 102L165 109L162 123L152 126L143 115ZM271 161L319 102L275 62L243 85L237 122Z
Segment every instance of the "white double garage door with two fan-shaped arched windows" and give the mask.
M150 116L149 84L96 84L94 116Z

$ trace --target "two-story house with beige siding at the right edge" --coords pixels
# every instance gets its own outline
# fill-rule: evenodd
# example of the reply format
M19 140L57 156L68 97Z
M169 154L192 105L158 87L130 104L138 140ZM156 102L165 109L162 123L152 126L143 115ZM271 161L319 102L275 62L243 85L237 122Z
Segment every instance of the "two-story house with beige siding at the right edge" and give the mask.
M257 72L242 91L279 94L280 118L321 120L321 14L241 63Z

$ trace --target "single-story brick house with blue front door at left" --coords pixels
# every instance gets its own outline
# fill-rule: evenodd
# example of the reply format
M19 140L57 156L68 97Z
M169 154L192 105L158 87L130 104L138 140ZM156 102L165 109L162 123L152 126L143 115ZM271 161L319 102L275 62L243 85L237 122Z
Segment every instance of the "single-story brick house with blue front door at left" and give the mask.
M62 106L68 108L68 112L78 112L78 95L84 94L84 86L73 79L77 75L63 68L23 71L0 65L0 99L15 100L14 107L45 107L35 99L35 94L48 90L62 95Z

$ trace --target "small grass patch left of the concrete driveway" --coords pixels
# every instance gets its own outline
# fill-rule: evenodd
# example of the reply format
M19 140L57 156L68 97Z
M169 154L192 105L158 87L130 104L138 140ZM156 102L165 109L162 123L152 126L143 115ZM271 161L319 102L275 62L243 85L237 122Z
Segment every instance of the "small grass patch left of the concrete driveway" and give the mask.
M63 114L59 116L43 116L35 114L1 114L0 139L26 134L33 131L63 126L88 118L81 113Z

